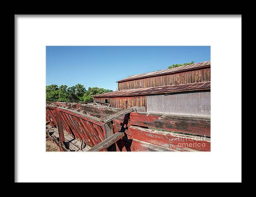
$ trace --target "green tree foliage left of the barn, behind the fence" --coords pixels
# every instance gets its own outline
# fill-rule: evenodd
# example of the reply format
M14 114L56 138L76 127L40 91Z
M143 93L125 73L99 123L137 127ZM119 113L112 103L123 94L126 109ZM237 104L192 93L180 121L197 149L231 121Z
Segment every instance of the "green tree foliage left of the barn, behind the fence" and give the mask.
M46 101L61 101L61 102L93 102L93 95L112 92L113 90L106 90L99 87L89 87L85 89L84 85L76 84L72 87L56 84L46 86Z

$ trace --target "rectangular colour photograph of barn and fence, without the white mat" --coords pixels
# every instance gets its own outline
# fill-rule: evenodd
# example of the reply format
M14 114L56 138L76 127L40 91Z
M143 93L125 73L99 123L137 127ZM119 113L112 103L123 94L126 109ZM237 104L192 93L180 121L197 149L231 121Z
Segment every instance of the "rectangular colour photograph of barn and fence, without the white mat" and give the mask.
M46 46L46 151L211 151L211 46Z

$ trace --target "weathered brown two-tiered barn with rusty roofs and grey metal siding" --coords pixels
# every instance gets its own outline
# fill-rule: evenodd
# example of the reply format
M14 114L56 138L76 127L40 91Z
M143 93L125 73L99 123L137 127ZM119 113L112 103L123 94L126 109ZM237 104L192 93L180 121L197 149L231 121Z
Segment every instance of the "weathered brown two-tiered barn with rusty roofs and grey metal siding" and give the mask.
M118 90L93 96L95 103L147 112L210 116L210 61L131 75L117 81Z

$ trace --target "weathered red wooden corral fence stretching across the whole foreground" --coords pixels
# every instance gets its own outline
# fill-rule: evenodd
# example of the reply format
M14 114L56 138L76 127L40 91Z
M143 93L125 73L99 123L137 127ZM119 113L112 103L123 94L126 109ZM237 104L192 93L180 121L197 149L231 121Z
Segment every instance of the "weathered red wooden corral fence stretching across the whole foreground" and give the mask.
M58 127L62 149L67 132L90 151L210 151L209 117L58 103L47 104L46 121Z

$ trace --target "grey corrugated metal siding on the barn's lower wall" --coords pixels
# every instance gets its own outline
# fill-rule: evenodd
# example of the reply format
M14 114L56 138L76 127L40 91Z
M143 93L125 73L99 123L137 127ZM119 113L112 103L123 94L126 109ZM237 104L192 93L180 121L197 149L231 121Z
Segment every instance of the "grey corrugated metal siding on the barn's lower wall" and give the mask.
M147 112L210 116L210 92L147 96Z

